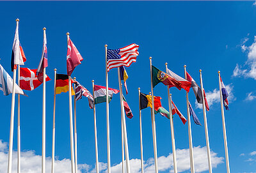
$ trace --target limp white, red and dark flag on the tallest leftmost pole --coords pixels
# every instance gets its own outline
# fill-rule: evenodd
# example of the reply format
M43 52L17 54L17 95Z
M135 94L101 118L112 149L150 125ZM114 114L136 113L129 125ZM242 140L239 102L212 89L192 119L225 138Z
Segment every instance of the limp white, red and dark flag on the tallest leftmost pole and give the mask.
M12 45L12 60L11 60L12 71L13 69L17 69L17 65L24 65L25 61L26 61L26 57L20 45L20 40L19 40L19 24L17 24L14 41Z

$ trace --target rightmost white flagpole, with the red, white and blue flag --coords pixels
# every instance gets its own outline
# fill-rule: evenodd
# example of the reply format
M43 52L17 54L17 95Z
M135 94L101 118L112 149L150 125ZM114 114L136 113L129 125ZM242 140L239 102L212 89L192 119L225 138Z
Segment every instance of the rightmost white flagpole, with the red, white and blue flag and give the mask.
M224 116L224 105L223 105L223 98L222 98L222 91L221 91L220 71L218 71L218 73L219 73L220 105L221 105L221 116L222 116L222 128L223 128L224 146L225 146L226 167L227 167L227 173L230 173L229 159L228 159L228 143L227 143L225 116Z

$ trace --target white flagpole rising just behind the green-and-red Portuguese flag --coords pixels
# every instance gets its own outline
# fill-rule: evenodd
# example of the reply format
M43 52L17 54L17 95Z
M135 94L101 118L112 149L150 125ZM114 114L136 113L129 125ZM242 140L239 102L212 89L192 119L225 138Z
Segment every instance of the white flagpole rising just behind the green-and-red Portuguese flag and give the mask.
M166 73L167 73L167 64L165 63ZM168 103L169 103L169 112L170 112L170 126L171 126L171 136L172 136L172 156L173 156L173 170L174 173L177 173L177 159L176 159L176 147L175 147L175 137L174 137L174 128L173 128L173 119L172 119L172 94L170 94L169 86L167 86L168 91Z

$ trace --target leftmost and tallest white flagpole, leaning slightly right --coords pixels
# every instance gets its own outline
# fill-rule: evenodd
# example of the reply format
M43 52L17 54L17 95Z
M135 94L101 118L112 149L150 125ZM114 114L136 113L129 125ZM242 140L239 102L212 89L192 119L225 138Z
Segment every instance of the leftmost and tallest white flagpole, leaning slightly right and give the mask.
M17 26L19 26L19 19L16 19L16 27ZM13 123L14 123L14 107L15 107L15 84L16 84L16 69L13 69L12 109L11 109L11 120L10 120L9 153L8 153L8 173L12 172L12 149L13 149Z

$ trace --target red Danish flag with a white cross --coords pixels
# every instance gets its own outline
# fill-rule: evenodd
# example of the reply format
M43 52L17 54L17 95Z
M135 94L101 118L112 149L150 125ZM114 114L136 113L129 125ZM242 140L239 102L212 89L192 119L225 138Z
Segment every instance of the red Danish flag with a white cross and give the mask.
M51 80L47 75L45 81ZM36 69L20 68L20 88L32 91L40 86L42 82L38 80Z

